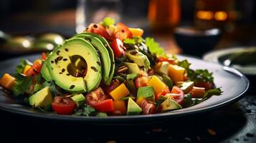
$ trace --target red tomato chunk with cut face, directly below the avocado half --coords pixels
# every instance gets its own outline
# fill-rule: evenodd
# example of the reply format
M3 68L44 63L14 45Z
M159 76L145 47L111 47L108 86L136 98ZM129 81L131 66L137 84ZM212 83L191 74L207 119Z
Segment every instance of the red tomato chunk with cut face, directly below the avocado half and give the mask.
M113 99L107 99L100 87L86 95L86 102L100 112L113 112L115 109Z

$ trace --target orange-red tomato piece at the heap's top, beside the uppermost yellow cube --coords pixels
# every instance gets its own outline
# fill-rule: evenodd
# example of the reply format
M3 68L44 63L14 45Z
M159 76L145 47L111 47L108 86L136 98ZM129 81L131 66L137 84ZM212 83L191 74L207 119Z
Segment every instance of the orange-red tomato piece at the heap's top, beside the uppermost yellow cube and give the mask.
M123 23L116 24L116 28L118 29L118 31L115 33L115 38L118 38L121 41L123 41L123 39L125 38L131 38L133 36L131 31L129 30L129 27Z

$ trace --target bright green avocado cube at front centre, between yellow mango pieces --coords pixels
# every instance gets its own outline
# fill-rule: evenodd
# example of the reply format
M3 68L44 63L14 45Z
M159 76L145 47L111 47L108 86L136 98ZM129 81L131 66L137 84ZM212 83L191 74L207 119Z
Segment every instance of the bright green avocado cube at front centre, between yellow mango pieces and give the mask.
M140 87L138 88L137 98L143 97L144 99L151 99L152 101L155 99L155 92L153 91L153 87Z

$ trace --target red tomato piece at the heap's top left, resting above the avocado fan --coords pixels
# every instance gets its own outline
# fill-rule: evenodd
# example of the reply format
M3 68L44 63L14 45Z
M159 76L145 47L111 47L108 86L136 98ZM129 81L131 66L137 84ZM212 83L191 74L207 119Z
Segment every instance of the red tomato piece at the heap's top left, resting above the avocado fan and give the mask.
M102 24L90 24L86 31L99 34L100 36L103 36L105 39L112 40L113 38L108 34L108 31L105 29L105 27Z

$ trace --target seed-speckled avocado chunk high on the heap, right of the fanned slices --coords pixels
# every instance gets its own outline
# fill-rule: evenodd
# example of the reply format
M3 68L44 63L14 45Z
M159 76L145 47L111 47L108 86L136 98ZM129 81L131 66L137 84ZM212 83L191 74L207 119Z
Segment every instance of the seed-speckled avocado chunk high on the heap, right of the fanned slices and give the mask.
M125 53L128 59L131 59L134 63L138 64L139 67L143 66L146 69L151 69L150 62L145 54L142 54L135 49L128 50Z

